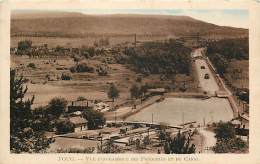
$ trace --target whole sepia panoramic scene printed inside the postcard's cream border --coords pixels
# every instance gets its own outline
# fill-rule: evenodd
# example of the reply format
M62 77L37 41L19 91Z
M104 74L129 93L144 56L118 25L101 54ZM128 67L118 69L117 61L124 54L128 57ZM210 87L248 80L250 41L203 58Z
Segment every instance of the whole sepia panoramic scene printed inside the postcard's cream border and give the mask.
M10 151L248 153L248 12L122 11L12 11Z

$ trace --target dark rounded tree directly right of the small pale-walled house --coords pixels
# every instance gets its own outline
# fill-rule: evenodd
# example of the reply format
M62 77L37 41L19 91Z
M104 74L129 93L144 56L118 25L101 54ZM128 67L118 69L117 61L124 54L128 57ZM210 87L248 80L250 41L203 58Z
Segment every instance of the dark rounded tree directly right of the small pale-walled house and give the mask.
M88 129L97 129L99 126L103 126L106 123L103 113L93 109L85 110L83 117L88 120Z

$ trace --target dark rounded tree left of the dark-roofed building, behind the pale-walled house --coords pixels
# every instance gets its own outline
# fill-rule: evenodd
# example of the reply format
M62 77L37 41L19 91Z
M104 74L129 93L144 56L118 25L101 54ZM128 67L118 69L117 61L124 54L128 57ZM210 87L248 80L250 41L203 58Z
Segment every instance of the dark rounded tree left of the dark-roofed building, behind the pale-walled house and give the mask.
M60 115L65 112L67 103L67 100L65 100L64 98L55 97L51 99L48 106L48 114L50 114L54 118L59 118Z

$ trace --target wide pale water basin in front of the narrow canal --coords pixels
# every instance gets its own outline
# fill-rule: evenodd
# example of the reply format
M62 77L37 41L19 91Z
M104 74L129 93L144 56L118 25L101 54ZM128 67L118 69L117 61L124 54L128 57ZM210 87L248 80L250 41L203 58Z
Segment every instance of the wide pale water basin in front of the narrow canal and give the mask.
M224 98L166 98L128 117L127 121L144 121L180 125L183 122L229 121L233 118L232 108ZM205 121L204 121L205 120Z

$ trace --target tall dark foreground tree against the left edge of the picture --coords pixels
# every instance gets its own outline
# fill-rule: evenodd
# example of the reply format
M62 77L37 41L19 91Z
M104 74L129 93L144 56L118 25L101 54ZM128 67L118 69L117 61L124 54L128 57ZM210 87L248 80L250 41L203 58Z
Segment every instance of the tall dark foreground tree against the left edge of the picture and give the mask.
M24 100L26 79L16 77L15 70L10 71L10 150L12 153L42 152L48 148L52 139L44 137L44 129L35 126L36 119L31 110L32 99Z

